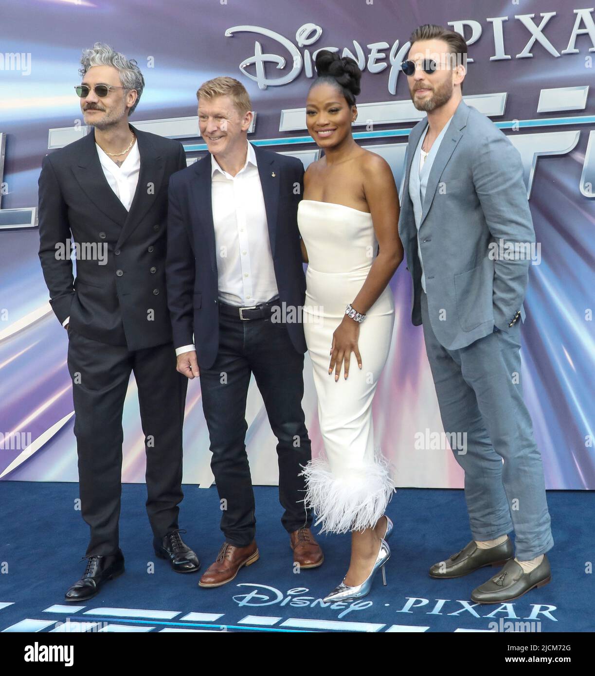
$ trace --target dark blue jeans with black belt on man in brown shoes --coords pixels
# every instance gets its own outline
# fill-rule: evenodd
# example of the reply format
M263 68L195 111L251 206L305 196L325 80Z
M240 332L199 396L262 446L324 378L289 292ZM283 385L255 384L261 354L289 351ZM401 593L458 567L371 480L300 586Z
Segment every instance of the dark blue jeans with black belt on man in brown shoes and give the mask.
M200 369L202 406L210 436L211 468L222 504L225 539L245 547L254 539L254 491L245 447L246 397L254 373L270 427L277 437L281 523L288 533L310 527L304 507L302 467L311 458L305 425L304 355L295 351L287 328L270 318L242 321L219 314L219 352Z

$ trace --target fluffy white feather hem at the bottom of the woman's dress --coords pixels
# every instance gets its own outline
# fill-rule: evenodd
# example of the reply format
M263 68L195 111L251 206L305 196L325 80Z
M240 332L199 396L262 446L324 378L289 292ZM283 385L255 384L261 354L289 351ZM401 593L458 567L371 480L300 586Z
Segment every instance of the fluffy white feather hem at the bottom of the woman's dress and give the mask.
M324 457L302 465L306 477L304 505L314 509L320 533L348 533L373 528L394 492L388 464L381 453L375 462L337 476Z

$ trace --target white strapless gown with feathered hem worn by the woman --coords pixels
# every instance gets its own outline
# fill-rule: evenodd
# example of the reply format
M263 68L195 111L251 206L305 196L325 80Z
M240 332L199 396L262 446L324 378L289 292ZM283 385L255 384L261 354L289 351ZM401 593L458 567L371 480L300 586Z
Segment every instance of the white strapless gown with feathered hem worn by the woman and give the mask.
M387 463L375 451L372 400L385 365L394 324L387 287L360 324L356 356L346 380L329 375L333 332L366 281L378 242L371 214L341 204L302 199L298 226L308 251L304 332L314 369L325 456L306 465L306 506L321 532L373 527L394 490Z

